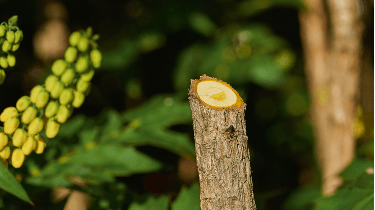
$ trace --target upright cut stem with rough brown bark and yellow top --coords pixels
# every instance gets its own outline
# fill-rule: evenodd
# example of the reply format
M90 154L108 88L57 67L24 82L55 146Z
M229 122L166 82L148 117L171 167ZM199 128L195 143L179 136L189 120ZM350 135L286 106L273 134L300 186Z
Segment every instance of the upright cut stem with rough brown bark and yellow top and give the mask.
M202 210L255 210L246 104L229 84L191 80L190 107Z

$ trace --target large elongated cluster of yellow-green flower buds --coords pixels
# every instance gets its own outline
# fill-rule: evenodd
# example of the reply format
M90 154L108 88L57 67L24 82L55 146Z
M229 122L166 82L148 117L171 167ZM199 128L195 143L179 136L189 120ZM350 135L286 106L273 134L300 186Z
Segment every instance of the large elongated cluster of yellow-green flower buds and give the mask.
M30 96L22 96L15 107L8 107L0 114L4 123L4 127L0 126L0 160L6 167L8 164L21 167L25 156L32 151L43 153L46 141L39 133L45 128L46 137L54 138L73 108L84 102L94 69L100 67L102 57L96 49L98 35L91 34L91 28L72 33L65 59L52 64L53 74L43 85L33 87Z

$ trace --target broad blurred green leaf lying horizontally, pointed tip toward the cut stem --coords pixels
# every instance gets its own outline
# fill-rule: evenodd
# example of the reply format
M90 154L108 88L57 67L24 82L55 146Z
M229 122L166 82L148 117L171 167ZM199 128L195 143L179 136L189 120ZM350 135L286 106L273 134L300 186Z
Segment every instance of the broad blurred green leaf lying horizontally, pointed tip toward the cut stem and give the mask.
M98 145L96 148L72 156L67 163L81 164L107 170L114 176L157 171L162 163L132 147Z

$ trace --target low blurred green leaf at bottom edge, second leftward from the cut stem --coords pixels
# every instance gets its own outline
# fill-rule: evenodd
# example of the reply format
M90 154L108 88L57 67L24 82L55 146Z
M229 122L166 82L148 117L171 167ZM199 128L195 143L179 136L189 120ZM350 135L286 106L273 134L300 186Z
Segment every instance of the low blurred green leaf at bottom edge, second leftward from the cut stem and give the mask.
M130 204L128 210L168 210L168 196L148 196L145 201L134 201Z

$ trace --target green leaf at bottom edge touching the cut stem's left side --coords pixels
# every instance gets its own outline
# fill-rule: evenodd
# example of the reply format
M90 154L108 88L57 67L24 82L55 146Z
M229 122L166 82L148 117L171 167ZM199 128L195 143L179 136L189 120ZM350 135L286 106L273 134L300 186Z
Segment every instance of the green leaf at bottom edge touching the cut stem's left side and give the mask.
M199 195L199 183L194 183L189 188L183 186L176 200L172 203L171 210L201 210Z

